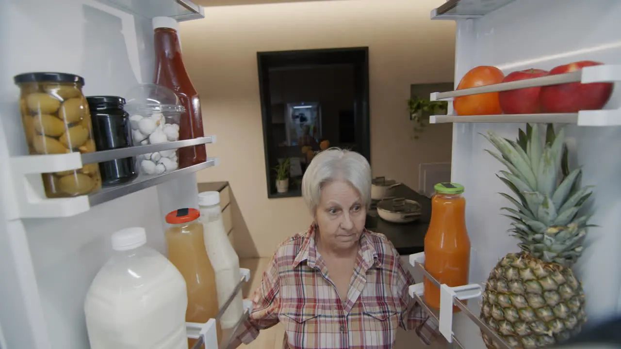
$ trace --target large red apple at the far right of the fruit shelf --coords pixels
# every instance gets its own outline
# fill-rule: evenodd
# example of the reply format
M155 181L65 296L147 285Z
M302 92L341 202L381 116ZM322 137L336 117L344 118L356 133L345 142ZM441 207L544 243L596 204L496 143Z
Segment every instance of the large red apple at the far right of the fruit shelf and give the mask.
M571 73L585 66L601 65L595 61L578 61L550 70L550 75ZM539 102L543 112L578 112L602 109L612 94L612 83L566 83L543 86Z

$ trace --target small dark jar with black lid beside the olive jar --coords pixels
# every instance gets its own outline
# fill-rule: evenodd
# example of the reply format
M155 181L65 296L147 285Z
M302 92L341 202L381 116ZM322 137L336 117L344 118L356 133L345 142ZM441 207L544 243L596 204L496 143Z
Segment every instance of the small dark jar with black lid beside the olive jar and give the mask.
M97 150L132 147L129 114L124 111L125 99L116 96L86 97L91 111L93 138ZM103 186L116 186L138 176L135 159L122 158L99 163Z

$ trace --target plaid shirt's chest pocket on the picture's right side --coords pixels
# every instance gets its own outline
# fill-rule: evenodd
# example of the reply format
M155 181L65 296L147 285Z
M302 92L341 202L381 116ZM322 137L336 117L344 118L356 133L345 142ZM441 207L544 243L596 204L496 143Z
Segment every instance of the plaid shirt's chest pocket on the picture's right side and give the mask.
M363 301L362 328L365 340L392 345L399 327L399 311L393 301Z

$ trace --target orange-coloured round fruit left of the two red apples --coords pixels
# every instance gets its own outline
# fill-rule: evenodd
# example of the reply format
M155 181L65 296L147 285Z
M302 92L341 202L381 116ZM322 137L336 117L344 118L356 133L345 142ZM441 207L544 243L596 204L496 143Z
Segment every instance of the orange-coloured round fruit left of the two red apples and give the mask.
M461 78L457 89L499 84L502 83L502 79L504 79L504 74L495 66L477 66ZM455 109L457 115L502 114L497 92L455 97L453 99L453 109Z

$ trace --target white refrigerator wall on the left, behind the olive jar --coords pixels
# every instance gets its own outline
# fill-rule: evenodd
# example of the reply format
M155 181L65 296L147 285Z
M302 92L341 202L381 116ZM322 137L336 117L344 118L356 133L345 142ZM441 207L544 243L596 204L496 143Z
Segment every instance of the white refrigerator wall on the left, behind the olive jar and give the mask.
M132 4L152 6L148 1ZM151 20L113 6L94 0L0 1L2 163L27 153L14 75L75 73L86 80L86 96L123 96L135 84L152 81ZM9 176L6 166L0 166L4 197L12 191ZM8 348L88 348L84 296L112 253L110 235L125 227L145 227L148 245L165 252L163 211L196 207L194 201L194 175L65 219L9 222L11 202L0 200L0 324Z

